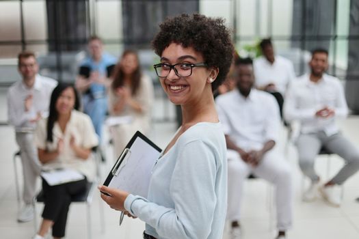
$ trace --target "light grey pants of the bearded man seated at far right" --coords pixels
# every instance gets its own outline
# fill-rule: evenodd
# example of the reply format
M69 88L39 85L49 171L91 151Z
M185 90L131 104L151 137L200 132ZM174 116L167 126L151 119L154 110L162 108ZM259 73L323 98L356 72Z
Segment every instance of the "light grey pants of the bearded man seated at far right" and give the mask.
M321 147L334 154L338 154L345 160L345 165L332 178L335 184L343 184L351 175L359 170L359 150L347 140L341 133L327 136L325 132L319 131L310 134L301 134L297 139L297 150L299 154L300 169L310 180L317 181L319 176L315 173L314 160L319 154Z

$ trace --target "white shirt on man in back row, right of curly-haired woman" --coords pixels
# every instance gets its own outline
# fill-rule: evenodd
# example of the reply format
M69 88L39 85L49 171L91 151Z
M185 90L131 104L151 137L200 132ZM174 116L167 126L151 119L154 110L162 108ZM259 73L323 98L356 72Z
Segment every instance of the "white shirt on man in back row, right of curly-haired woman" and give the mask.
M295 79L293 63L280 55L276 55L274 63L258 57L253 62L254 75L256 76L256 87L265 87L274 83L276 89L284 96L290 81Z

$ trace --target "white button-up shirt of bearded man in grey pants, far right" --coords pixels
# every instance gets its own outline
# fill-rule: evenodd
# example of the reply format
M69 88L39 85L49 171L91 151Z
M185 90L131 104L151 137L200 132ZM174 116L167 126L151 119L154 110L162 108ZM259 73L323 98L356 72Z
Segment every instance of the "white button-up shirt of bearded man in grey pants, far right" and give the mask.
M315 113L324 107L334 109L334 117L316 117ZM284 100L284 117L301 122L301 132L310 133L323 130L327 135L338 132L336 117L346 117L348 113L343 86L334 76L323 74L317 83L310 81L309 74L293 81Z

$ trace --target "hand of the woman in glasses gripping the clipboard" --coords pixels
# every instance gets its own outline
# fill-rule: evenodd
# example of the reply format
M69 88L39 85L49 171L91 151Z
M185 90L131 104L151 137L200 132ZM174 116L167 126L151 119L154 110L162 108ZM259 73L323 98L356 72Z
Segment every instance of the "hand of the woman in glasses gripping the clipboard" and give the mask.
M105 201L110 208L118 211L126 211L124 209L124 200L126 200L129 193L116 188L109 188L107 186L100 185L98 189L103 193L108 193L111 196L107 196L101 193L101 198Z

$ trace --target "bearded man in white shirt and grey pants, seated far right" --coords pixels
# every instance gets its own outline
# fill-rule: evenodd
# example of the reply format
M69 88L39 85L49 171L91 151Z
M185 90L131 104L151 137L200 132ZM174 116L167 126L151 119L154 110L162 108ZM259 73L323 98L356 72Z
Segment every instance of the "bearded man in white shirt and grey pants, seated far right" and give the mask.
M335 124L337 118L347 116L348 109L343 86L336 77L324 73L328 68L328 51L315 49L309 66L310 74L304 74L289 87L284 117L301 122L296 142L299 163L312 182L303 195L304 201L313 201L319 189L332 206L340 206L340 185L358 171L359 151ZM344 167L323 186L319 186L320 178L314 169L314 160L321 147L345 160Z

